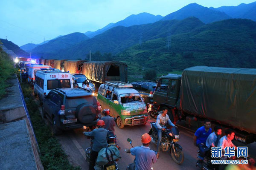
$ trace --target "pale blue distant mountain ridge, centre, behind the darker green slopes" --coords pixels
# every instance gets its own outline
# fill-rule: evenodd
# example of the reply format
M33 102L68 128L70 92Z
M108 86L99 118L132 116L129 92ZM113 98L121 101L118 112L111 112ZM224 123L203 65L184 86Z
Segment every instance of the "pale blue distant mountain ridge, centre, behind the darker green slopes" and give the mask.
M129 17L125 18L124 20L121 20L117 23L110 23L107 26L103 27L102 29L99 29L97 31L87 31L84 33L88 37L92 38L96 35L99 35L103 33L104 31L107 31L110 28L116 27L116 26L134 26L134 25L141 25L141 24L148 24L148 23L154 23L159 20L161 20L163 17L161 15L153 15L146 12L140 13L140 14L132 14Z

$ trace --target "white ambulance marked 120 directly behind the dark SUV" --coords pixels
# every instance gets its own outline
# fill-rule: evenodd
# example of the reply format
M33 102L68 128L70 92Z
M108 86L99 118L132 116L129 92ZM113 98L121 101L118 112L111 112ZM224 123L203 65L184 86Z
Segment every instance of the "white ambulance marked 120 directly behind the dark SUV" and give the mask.
M36 72L34 94L39 96L40 102L55 88L73 88L71 74L55 68L41 68Z

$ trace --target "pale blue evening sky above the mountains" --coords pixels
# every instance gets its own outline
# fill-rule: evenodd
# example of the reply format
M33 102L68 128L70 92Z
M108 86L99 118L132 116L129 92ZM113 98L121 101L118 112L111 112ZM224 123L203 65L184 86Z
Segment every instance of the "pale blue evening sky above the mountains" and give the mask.
M41 43L58 35L96 31L131 14L165 16L189 3L237 6L255 0L0 0L0 38L17 45Z

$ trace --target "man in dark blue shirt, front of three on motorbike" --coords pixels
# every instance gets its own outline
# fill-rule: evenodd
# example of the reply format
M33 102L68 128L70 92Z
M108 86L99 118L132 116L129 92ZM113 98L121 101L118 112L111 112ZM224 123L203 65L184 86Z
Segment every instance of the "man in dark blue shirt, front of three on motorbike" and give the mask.
M211 122L208 119L205 119L204 126L199 127L194 135L194 145L197 146L200 150L198 165L201 164L202 161L204 160L204 154L208 150L208 148L205 146L206 139L211 133Z

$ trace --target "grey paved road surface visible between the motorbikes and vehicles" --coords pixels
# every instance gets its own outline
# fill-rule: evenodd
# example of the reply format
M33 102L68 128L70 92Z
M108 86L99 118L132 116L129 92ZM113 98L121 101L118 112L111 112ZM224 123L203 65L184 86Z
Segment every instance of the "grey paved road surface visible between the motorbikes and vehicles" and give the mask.
M153 121L152 119L151 121ZM132 163L134 156L129 153L125 153L125 148L130 148L131 145L127 142L127 138L132 140L133 146L140 146L141 135L148 132L150 129L149 123L147 125L138 126L125 126L123 129L116 127L117 142L121 147L120 156L118 161L119 169L125 170L127 165ZM89 163L85 161L84 150L89 147L90 139L82 134L83 129L66 131L63 135L57 136L65 152L69 156L69 160L72 164L81 166L82 170L88 170ZM157 163L153 165L154 170L196 170L195 167L196 150L192 144L192 134L187 130L180 129L180 141L179 144L183 147L185 154L185 160L182 165L176 164L172 161L172 158L168 151L161 152ZM156 150L154 144L150 145L151 149Z

